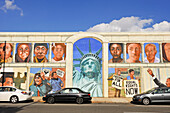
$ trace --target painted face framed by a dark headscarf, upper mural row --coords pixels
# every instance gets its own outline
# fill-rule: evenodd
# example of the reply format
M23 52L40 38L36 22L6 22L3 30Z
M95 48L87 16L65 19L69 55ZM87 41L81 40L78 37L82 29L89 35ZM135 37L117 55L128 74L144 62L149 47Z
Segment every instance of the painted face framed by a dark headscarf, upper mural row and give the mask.
M30 48L27 44L21 44L18 47L18 55L22 60L25 60L30 54Z

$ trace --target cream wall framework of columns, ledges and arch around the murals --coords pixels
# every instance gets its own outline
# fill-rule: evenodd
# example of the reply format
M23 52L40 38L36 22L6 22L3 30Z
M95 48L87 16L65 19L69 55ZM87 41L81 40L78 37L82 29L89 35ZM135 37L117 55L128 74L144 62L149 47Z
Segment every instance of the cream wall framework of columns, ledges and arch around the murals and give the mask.
M160 74L167 74L169 71L170 63L163 62L162 58L162 44L170 43L170 33L88 33L88 32L1 32L0 33L0 43L13 43L13 62L6 63L5 66L8 68L26 68L27 79L25 81L26 89L29 90L30 83L30 69L40 68L40 67L50 67L50 68L65 68L65 87L71 87L73 84L73 44L82 38L94 38L102 43L102 79L103 79L103 97L109 96L108 87L108 74L109 68L140 68L141 75L141 92L154 87L154 83L149 75L147 75L147 68L156 70L160 69ZM31 43L32 53L31 62L29 63L15 63L15 51L17 43ZM49 61L51 60L51 47L52 43L65 43L66 44L66 62L58 63L34 63L33 62L33 48L35 43L48 43L49 44ZM123 63L108 63L109 56L109 43L123 43ZM141 62L142 63L126 63L126 44L127 43L140 43L142 47ZM144 44L145 43L158 43L159 44L159 55L160 63L144 63ZM166 71L167 70L167 71ZM1 70L3 71L3 70ZM157 71L155 71L157 72ZM161 75L161 76L163 76ZM160 77L161 81L165 83L166 76ZM149 83L149 86L148 86ZM23 87L23 86L22 86Z

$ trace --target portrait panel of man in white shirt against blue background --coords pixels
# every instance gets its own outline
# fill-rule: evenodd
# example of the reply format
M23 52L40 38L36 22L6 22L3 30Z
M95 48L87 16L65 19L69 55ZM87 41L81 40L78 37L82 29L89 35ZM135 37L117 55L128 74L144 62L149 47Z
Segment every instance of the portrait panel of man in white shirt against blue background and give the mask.
M144 62L145 63L159 63L159 44L158 43L145 43L145 54Z

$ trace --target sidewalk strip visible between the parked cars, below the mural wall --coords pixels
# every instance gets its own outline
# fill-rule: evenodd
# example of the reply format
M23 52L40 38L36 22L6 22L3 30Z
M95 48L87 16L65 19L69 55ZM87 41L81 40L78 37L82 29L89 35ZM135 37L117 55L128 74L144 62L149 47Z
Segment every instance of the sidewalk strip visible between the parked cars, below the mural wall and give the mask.
M42 97L32 97L34 102L44 102ZM92 103L130 103L132 98L104 98L104 97L93 97Z

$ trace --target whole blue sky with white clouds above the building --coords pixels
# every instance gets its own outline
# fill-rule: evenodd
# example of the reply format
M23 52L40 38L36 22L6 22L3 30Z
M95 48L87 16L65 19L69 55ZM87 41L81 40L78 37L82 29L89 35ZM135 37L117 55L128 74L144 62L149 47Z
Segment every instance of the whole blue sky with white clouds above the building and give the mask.
M170 31L169 0L0 0L0 32Z

